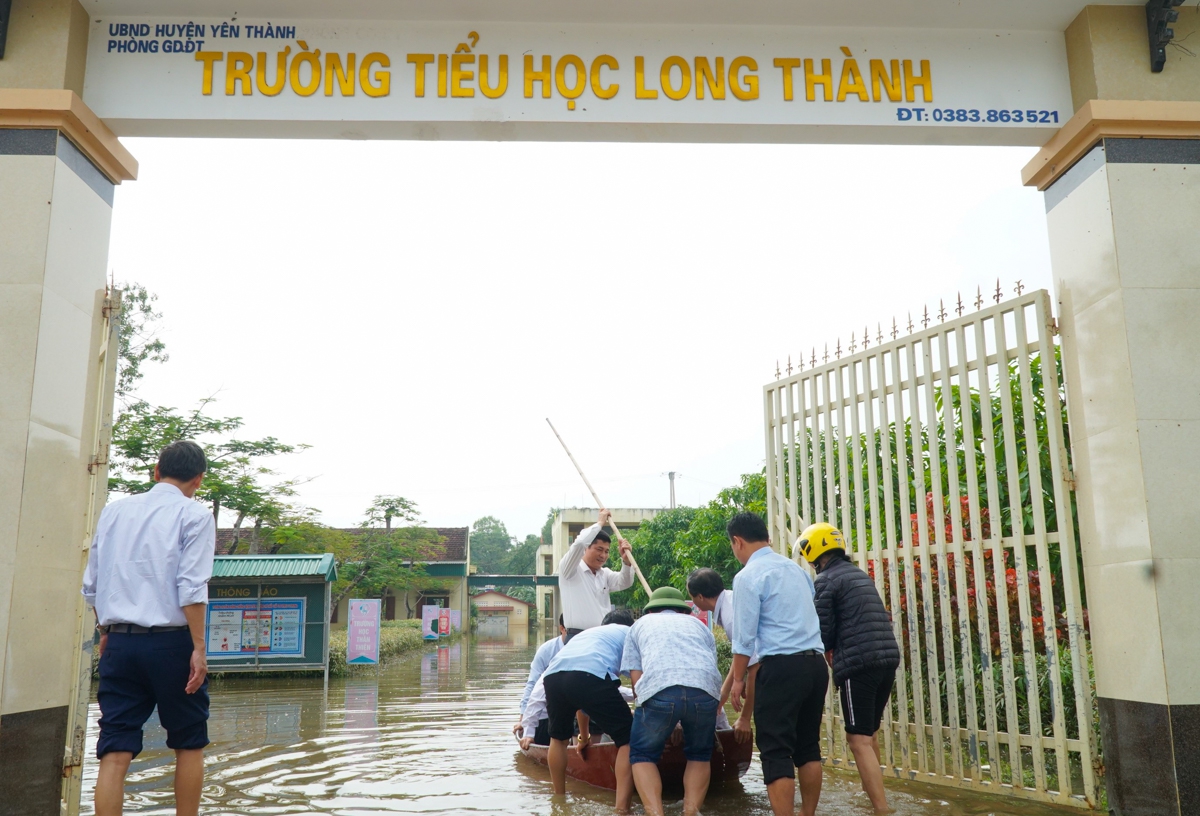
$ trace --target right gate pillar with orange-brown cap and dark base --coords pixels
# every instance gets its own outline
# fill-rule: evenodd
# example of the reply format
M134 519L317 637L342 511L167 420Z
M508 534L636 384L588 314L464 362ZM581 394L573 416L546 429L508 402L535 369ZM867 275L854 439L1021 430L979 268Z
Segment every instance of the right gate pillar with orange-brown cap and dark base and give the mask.
M1087 102L1026 182L1045 191L1109 805L1198 814L1200 103Z

